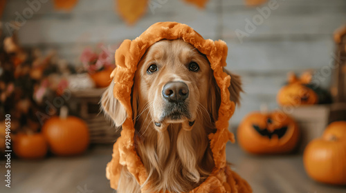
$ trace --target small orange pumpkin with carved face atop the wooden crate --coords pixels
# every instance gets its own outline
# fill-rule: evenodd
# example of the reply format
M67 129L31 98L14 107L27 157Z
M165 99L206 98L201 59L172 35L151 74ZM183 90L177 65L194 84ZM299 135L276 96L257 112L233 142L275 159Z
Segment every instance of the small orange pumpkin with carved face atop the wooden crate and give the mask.
M318 103L318 95L311 88L300 83L285 85L277 93L277 103L282 106L313 105Z

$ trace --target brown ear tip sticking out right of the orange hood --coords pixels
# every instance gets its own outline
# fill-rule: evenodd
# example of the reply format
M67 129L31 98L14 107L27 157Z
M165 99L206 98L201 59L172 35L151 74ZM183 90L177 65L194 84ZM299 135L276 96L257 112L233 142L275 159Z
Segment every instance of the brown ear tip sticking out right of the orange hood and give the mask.
M240 105L240 92L243 92L242 80L239 75L233 74L225 68L224 72L230 75L230 87L228 87L228 91L230 92L230 101L235 102L236 105Z

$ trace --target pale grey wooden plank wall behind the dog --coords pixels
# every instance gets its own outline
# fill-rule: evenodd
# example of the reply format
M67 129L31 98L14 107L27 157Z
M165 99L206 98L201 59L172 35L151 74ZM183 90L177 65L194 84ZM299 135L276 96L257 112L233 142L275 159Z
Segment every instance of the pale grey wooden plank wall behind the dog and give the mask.
M35 1L35 0L28 0ZM245 31L246 22L257 17L258 8L244 6L242 0L210 0L206 10L182 0L163 3L135 26L127 26L114 12L114 1L80 0L71 12L56 11L49 0L21 26L19 38L26 46L56 49L60 57L79 63L86 45L102 42L111 45L134 39L158 21L178 21L192 26L205 38L223 39L228 43L228 69L241 74L246 94L242 106L231 120L239 123L245 114L258 110L261 103L277 108L275 94L293 70L320 70L333 59L332 33L346 23L345 0L277 0L275 9L256 26L254 32L239 41L236 31ZM2 21L15 19L16 12L28 8L26 1L8 1ZM329 85L327 75L321 85Z

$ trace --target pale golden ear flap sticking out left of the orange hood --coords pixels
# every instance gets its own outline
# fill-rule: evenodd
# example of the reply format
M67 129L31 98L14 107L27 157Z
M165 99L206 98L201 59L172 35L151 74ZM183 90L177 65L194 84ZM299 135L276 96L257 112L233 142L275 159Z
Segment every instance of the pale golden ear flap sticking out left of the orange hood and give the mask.
M117 127L124 123L127 113L122 104L113 96L114 81L108 86L101 96L101 107L104 114L109 116Z

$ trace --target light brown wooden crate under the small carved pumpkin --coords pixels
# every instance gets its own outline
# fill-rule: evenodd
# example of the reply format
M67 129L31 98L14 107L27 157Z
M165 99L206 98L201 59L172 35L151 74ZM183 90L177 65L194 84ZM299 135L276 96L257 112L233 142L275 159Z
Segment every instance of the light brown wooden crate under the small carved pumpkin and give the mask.
M329 123L330 105L307 105L293 108L289 115L297 121L301 131L299 152L311 140L320 137Z

